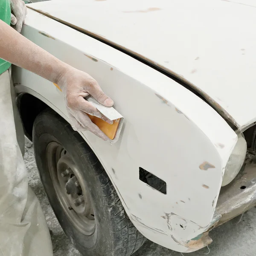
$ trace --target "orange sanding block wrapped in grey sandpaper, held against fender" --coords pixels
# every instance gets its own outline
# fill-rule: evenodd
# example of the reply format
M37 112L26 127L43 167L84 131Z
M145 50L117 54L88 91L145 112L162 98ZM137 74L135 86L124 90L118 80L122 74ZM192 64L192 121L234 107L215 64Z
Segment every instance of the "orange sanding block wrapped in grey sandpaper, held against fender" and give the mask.
M123 116L113 107L105 107L99 104L99 102L97 102L96 99L94 99L92 96L87 96L85 99L95 108L97 108L100 113L106 116L109 120L113 121L113 124L111 125L99 117L91 116L88 114L92 122L97 125L100 130L104 132L104 134L108 136L110 142L116 143L122 130L122 125L124 122Z

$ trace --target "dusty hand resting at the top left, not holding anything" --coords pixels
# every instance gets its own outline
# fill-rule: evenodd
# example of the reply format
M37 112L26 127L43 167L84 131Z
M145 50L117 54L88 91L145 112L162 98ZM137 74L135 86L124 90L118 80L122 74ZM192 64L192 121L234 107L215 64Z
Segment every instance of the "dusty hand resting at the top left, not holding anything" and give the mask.
M22 0L10 0L10 4L13 12L11 24L20 33L27 15L25 3Z

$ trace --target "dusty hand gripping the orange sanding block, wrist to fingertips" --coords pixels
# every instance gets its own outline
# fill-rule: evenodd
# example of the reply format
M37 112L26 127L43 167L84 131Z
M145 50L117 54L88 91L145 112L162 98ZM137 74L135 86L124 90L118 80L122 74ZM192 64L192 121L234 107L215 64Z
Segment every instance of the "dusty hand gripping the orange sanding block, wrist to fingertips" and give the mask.
M102 91L97 81L87 73L70 67L58 79L58 86L61 87L64 93L66 108L72 128L75 131L89 130L103 140L108 140L108 137L98 126L93 124L86 114L97 116L110 124L113 123L103 116L90 102L84 99L84 97L91 95L102 105L107 107L113 105L113 100Z

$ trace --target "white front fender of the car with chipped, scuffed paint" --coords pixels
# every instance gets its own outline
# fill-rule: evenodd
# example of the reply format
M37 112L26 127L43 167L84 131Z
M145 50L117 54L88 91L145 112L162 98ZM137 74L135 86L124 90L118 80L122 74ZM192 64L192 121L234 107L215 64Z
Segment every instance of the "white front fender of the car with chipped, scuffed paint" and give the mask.
M22 33L93 76L124 116L113 145L88 131L81 135L137 229L172 250L200 249L189 248L187 241L209 228L235 132L207 103L169 77L55 20L29 10ZM68 120L63 95L50 81L20 68L14 73L14 82L20 83L17 92L38 97ZM200 169L205 162L215 168ZM166 181L167 194L140 181L139 167Z

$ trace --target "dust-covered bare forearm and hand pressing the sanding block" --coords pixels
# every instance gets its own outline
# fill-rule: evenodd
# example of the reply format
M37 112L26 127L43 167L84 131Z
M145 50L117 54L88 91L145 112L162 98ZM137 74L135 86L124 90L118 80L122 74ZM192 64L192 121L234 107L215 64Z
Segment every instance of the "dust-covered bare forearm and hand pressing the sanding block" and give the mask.
M55 58L49 52L29 41L0 20L0 58L58 84L64 93L67 112L74 130L89 130L107 140L107 136L94 125L86 113L111 123L84 97L92 95L99 103L110 107L110 99L99 84L87 73L77 70Z

